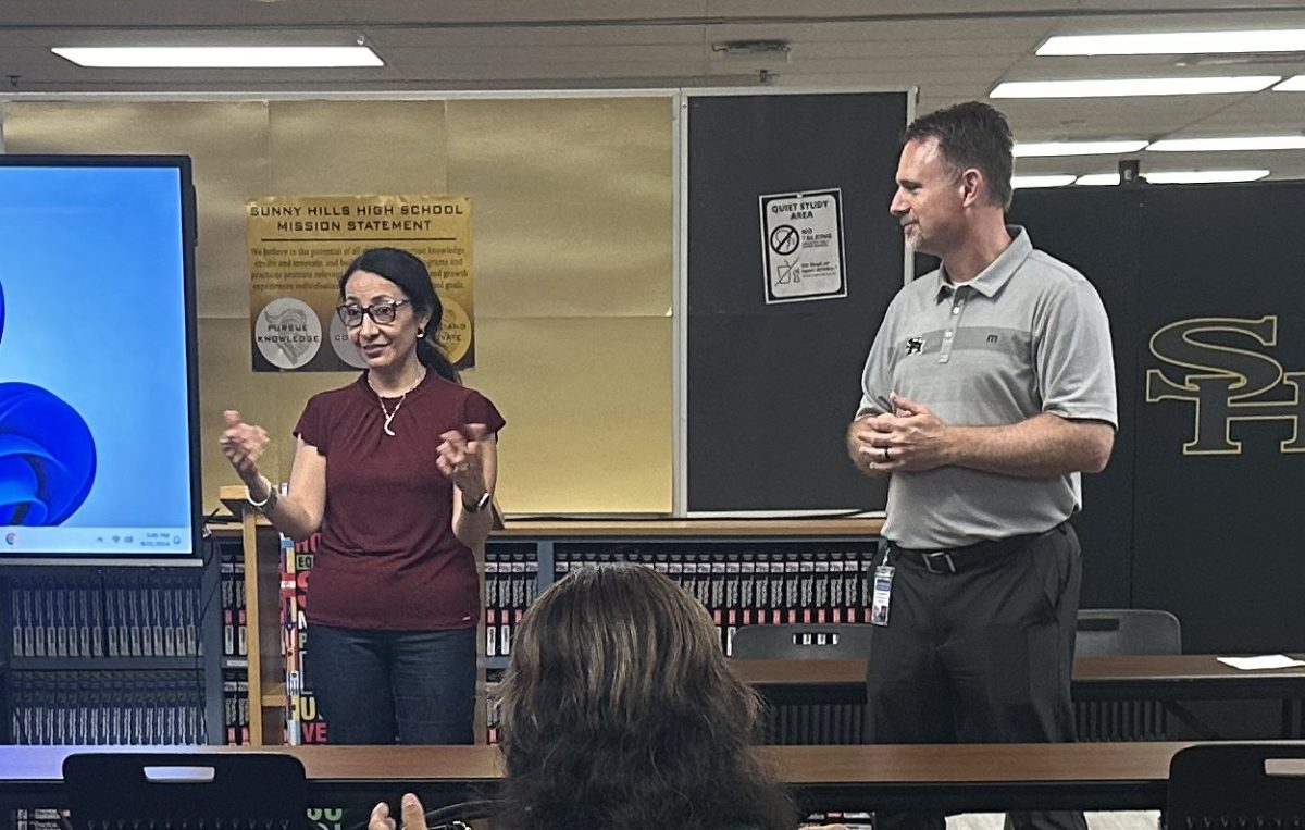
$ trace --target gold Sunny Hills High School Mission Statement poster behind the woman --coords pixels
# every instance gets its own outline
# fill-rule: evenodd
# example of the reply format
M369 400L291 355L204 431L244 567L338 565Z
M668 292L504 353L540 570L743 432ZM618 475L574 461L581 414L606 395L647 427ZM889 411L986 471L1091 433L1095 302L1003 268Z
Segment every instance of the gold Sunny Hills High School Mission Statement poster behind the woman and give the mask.
M471 200L466 196L266 196L245 206L256 372L339 372L365 364L335 313L339 277L367 248L411 251L444 305L438 341L475 364Z

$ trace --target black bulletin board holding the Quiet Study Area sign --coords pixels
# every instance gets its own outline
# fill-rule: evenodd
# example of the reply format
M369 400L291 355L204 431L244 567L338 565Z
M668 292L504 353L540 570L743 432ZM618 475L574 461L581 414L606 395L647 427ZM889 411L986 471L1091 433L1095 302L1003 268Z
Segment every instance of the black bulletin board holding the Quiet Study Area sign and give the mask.
M843 433L902 287L907 93L688 98L688 510L883 509ZM847 296L766 304L758 200L839 188Z

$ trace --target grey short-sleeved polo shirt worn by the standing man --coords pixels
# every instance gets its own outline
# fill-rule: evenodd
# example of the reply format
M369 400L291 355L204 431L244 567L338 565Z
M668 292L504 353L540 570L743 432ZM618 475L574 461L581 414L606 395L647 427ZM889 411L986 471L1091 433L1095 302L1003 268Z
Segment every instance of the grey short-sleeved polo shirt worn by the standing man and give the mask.
M1073 268L1010 245L955 286L942 269L893 299L861 376L856 416L891 411L889 393L947 424L1014 424L1040 412L1118 425L1114 359L1101 298ZM883 535L908 548L955 548L1040 532L1082 504L1077 472L1026 479L962 467L897 472Z

